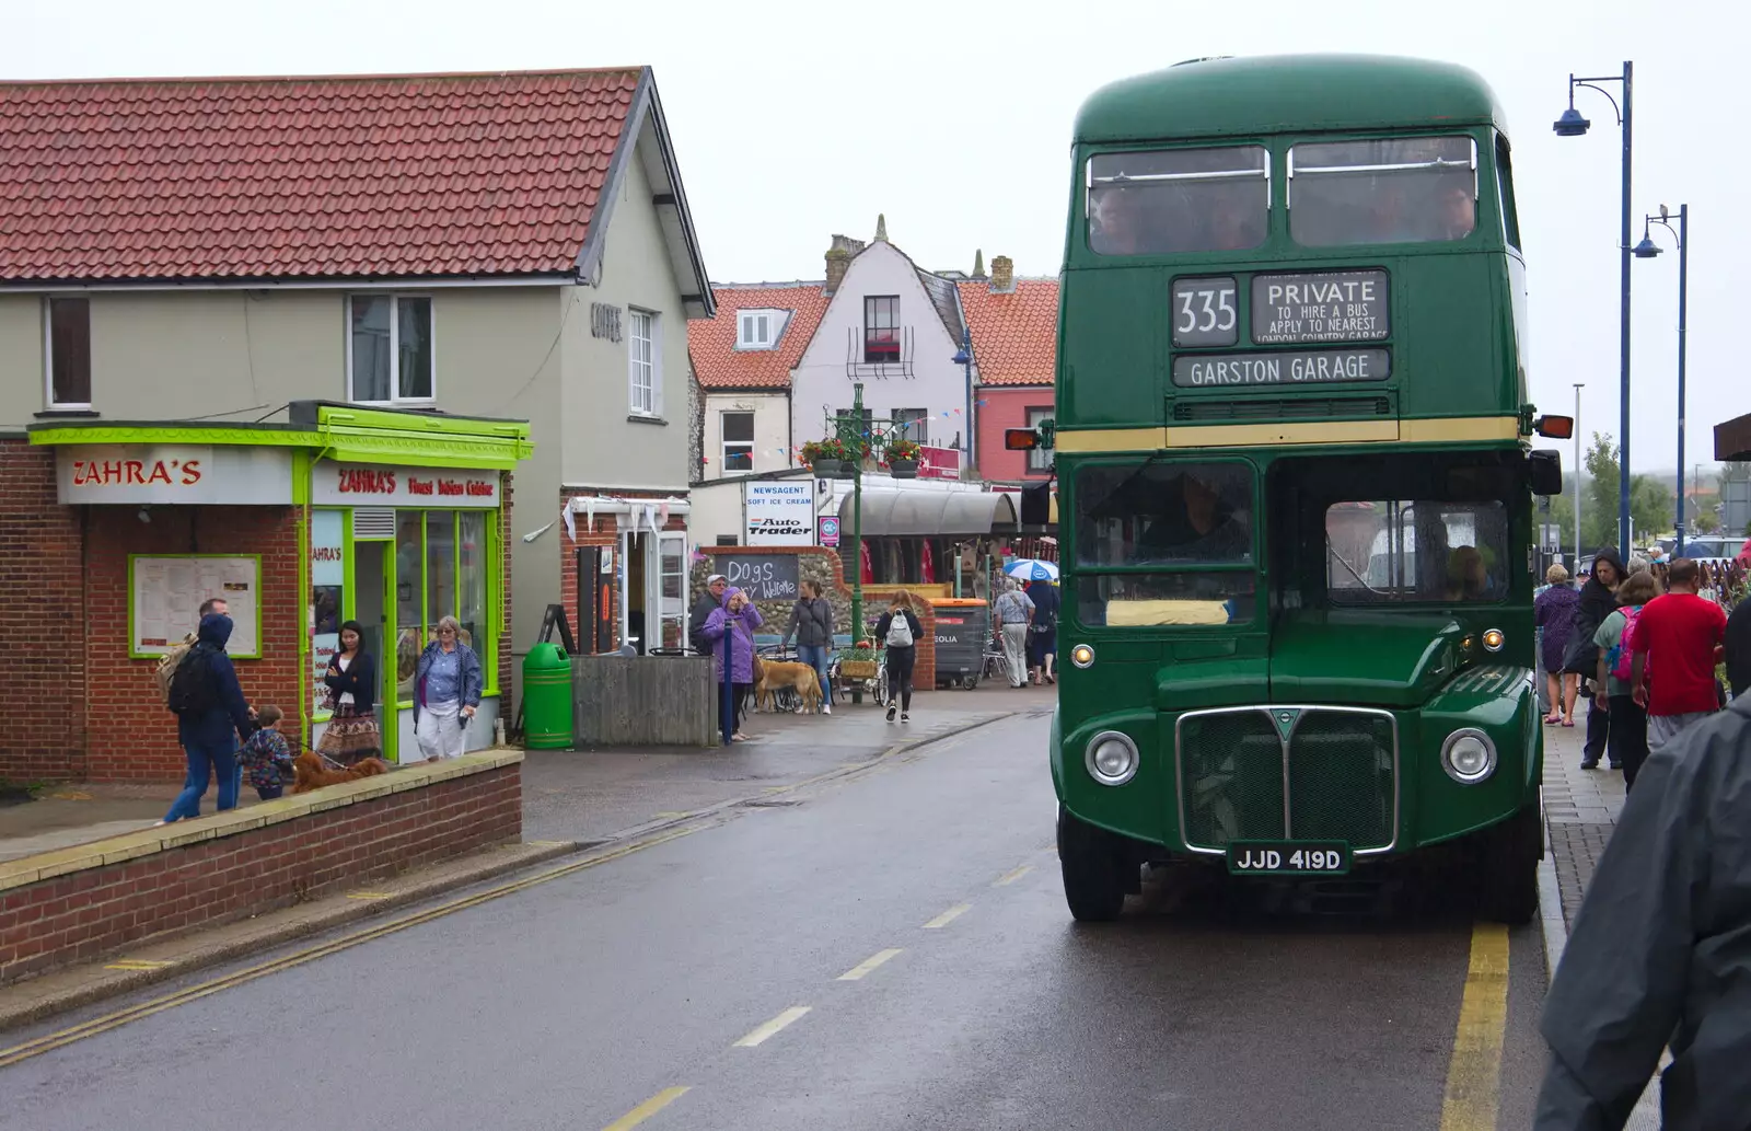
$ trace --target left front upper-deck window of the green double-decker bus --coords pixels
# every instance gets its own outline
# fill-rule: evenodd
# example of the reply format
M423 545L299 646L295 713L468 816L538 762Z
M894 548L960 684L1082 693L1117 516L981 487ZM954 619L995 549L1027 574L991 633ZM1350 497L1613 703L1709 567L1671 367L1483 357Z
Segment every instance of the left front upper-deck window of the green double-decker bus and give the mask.
M1262 145L1108 152L1089 159L1089 247L1101 256L1231 252L1269 231Z

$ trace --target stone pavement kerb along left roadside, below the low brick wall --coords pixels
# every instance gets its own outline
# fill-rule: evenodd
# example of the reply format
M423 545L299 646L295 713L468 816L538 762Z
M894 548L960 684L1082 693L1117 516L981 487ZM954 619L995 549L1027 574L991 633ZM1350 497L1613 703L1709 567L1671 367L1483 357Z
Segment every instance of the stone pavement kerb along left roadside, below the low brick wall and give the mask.
M133 954L147 952L154 945L172 945L175 942L200 940L201 935L217 935L214 942L200 945L198 942L187 951L179 952L165 959L165 965L144 968L144 970L107 970L103 961L116 961L117 956L109 956L107 959L95 959L91 963L82 963L77 966L68 966L63 970L54 970L44 973L37 979L28 979L25 982L16 982L12 986L0 987L0 1031L19 1028L33 1021L42 1021L82 1005L91 1005L95 1001L103 1001L105 998L114 998L135 989L144 989L147 986L166 982L207 966L215 966L238 958L247 958L249 954L266 951L287 942L296 942L298 938L306 938L310 935L319 935L322 931L334 930L336 926L347 926L348 923L357 923L361 919L376 917L383 912L408 907L411 903L420 903L440 895L447 895L459 888L468 888L482 881L496 879L506 872L517 872L524 868L532 868L534 865L546 863L559 856L571 856L592 849L608 849L634 840L651 837L655 833L667 832L681 825L695 825L709 821L711 818L756 802L762 798L777 797L781 793L793 793L807 786L821 784L826 781L835 781L840 777L851 777L856 774L867 774L872 769L891 762L900 755L932 746L935 742L944 742L947 739L960 737L981 727L1012 718L1016 713L979 716L968 720L961 727L944 730L939 734L921 735L918 739L907 739L895 742L883 749L879 755L868 762L860 762L858 765L835 767L823 774L805 777L804 781L790 783L786 786L776 786L772 790L763 790L760 793L751 793L748 797L730 798L727 802L718 802L716 805L707 805L693 812L686 812L676 818L664 818L658 821L646 821L643 825L634 825L630 828L618 830L602 839L592 840L531 840L511 846L499 846L496 849L482 849L471 856L462 856L455 861L445 861L432 865L422 872L410 872L401 877L392 877L375 884L373 888L389 888L382 898L357 900L348 895L326 896L315 903L294 905L273 912L264 912L259 921L259 930L236 931L238 923L215 924L208 931L196 931L193 935L166 935L159 938L142 938L130 951ZM513 849L513 851L506 851ZM464 865L466 861L466 865ZM469 867L471 865L471 867ZM247 919L243 923L249 923ZM226 931L235 931L224 937ZM95 970L96 968L96 970ZM100 972L100 977L93 977ZM61 987L58 982L67 982Z

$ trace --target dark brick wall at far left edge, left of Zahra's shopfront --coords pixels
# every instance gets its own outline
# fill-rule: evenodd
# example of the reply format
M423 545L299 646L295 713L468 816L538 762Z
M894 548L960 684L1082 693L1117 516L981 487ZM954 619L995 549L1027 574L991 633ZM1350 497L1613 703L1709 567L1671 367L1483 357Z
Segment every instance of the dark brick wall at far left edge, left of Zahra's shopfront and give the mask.
M54 495L54 450L0 439L0 777L84 774L86 636L79 509Z

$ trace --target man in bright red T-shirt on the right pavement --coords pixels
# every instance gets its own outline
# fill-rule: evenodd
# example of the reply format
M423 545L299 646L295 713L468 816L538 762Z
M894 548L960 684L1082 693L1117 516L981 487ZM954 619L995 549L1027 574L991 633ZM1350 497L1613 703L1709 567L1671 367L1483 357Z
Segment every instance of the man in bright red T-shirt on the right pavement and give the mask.
M1660 749L1721 709L1714 665L1726 636L1726 613L1697 595L1700 569L1672 558L1670 588L1635 618L1630 693L1648 709L1648 742Z

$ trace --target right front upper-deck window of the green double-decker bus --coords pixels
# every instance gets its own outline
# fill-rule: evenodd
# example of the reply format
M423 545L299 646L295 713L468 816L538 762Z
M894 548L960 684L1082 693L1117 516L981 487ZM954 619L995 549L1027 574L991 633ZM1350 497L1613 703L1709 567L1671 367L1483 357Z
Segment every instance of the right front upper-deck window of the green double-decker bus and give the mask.
M1289 235L1303 247L1436 243L1478 226L1469 137L1319 142L1289 151Z

